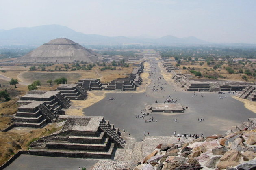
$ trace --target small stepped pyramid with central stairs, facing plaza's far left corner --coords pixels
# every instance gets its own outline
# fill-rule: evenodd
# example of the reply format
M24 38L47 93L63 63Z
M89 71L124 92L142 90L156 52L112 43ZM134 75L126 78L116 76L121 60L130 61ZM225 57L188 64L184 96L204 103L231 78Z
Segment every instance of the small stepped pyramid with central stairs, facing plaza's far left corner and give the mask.
M82 90L102 90L102 83L99 79L86 78L80 79L76 83Z

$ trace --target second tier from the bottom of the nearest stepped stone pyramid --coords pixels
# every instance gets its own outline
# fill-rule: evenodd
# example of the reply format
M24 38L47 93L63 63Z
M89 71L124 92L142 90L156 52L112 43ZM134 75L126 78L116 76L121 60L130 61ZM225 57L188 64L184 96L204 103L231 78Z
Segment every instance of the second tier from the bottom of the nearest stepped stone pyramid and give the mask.
M81 144L81 143L66 143L66 142L48 142L48 149L69 149L69 150L87 150L87 151L106 151L110 144L109 138L105 138L102 144Z

